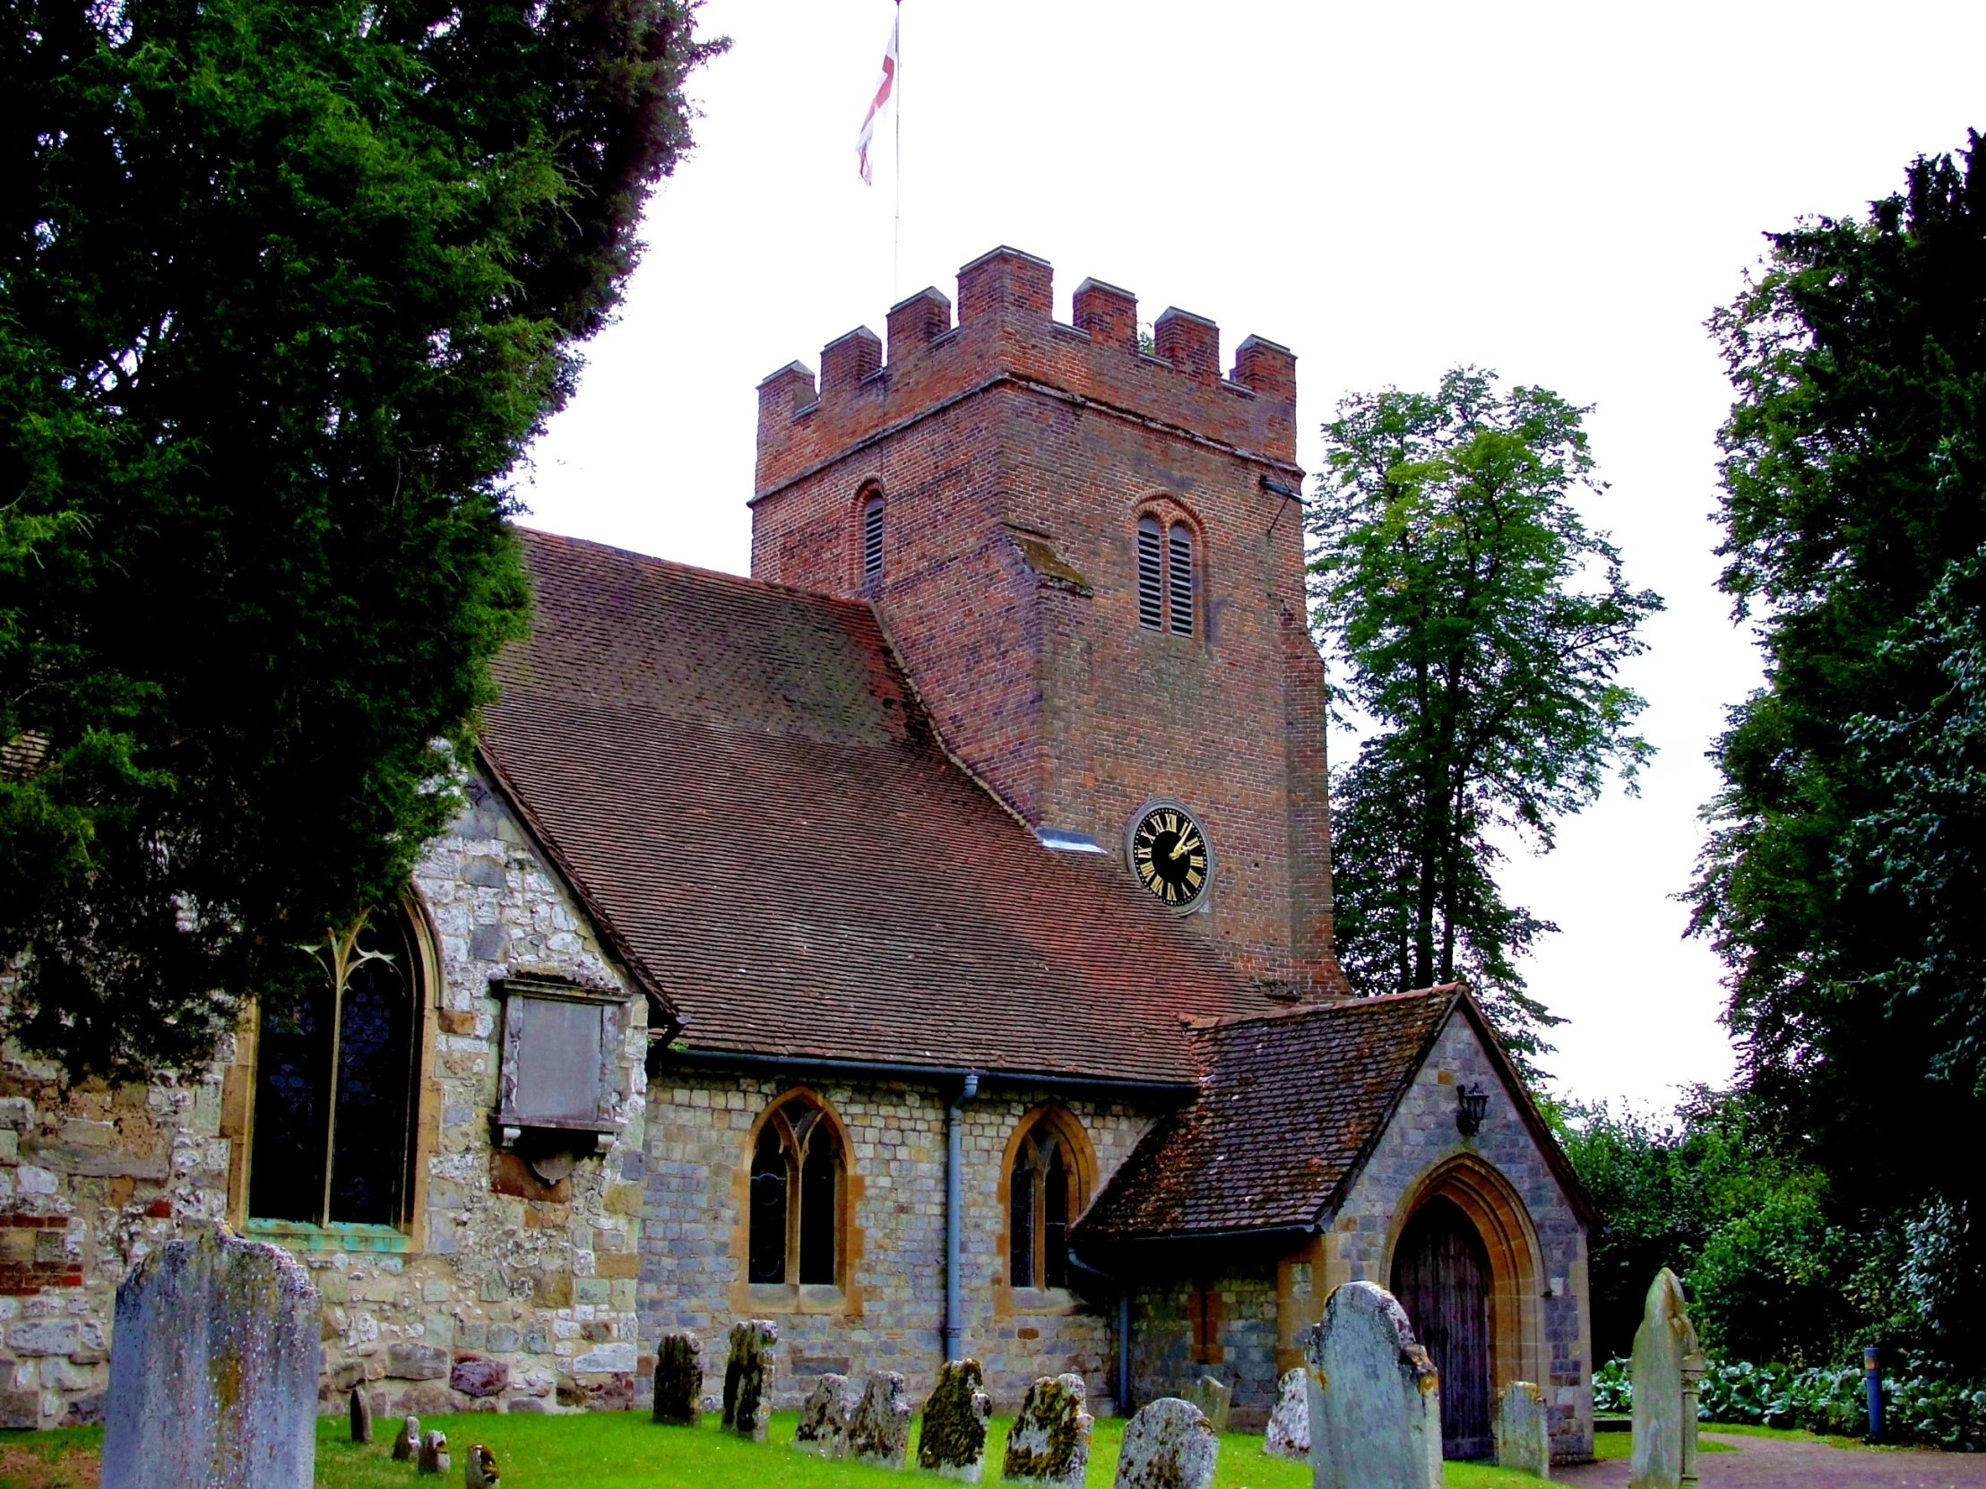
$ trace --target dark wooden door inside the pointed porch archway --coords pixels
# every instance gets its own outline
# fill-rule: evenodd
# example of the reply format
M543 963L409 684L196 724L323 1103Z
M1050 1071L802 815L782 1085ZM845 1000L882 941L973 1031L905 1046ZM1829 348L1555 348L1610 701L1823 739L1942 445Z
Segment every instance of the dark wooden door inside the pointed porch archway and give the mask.
M1490 1457L1490 1253L1452 1199L1408 1219L1392 1292L1442 1372L1442 1457Z

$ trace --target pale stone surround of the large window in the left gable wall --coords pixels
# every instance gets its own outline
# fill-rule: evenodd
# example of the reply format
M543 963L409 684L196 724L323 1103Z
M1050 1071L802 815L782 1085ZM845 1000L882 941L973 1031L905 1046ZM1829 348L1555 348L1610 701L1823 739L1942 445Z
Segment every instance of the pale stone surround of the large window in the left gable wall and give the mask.
M308 1225L300 1221L260 1221L248 1215L248 1157L254 1151L256 1044L260 1009L250 1001L234 1036L234 1064L222 1078L222 1136L228 1151L228 1225L254 1241L276 1241L292 1251L350 1251L419 1255L427 1235L427 1163L441 1132L441 1084L435 1080L437 1011L441 1009L441 937L427 905L411 885L401 889L399 911L407 917L421 953L421 1084L413 1112L413 1199L407 1227L389 1225Z

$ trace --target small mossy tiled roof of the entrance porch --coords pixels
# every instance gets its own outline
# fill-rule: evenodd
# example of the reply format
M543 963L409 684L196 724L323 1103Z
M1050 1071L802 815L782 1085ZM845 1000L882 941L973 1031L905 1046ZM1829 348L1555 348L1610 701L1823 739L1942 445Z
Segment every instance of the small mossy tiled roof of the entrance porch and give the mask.
M1317 1225L1460 1001L1438 987L1194 1030L1200 1096L1144 1136L1076 1237Z

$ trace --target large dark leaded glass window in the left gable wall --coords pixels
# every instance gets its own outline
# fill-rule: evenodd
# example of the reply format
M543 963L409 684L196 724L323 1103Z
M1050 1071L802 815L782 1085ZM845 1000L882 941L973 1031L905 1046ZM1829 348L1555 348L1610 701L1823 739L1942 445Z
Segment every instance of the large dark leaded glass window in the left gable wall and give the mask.
M288 997L260 1005L248 1215L403 1231L425 1018L413 919L395 909L359 931L342 989L326 967L298 967Z

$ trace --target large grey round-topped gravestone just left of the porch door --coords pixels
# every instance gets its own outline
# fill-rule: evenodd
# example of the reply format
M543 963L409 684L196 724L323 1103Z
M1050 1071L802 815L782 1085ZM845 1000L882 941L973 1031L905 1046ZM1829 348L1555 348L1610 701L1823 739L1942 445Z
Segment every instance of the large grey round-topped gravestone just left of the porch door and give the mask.
M1345 1283L1311 1330L1315 1489L1442 1489L1442 1392L1400 1300Z

